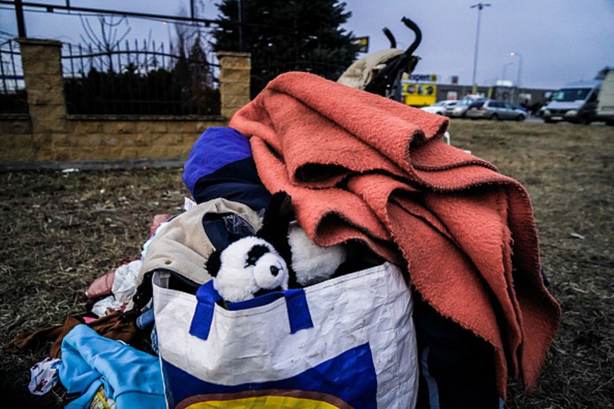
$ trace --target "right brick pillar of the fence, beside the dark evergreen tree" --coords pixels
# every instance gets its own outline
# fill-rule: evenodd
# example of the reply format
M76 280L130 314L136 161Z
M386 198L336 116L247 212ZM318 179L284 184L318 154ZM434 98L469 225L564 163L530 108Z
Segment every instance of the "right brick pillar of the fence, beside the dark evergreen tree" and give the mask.
M220 97L222 117L230 119L234 113L249 102L250 53L220 51Z

